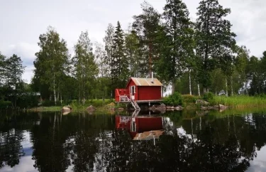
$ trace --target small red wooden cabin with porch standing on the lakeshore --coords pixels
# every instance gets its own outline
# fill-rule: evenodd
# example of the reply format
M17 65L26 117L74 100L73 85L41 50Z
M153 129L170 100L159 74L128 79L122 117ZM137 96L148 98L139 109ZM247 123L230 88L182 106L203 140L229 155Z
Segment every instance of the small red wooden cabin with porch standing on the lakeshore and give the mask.
M116 102L160 102L162 83L156 78L131 77L126 89L116 89Z

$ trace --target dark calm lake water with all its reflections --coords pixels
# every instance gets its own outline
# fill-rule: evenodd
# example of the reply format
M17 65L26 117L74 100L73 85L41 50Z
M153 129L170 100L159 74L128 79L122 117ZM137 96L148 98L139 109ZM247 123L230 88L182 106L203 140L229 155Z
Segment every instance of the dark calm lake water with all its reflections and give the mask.
M0 114L0 171L266 171L265 144L262 111Z

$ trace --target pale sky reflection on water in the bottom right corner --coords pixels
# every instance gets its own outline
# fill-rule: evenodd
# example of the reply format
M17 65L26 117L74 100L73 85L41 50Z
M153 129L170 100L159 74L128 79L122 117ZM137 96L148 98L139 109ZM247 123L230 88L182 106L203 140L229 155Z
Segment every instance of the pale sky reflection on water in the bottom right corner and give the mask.
M262 147L260 151L257 151L257 158L254 161L250 161L250 168L248 172L265 172L266 169L266 146Z

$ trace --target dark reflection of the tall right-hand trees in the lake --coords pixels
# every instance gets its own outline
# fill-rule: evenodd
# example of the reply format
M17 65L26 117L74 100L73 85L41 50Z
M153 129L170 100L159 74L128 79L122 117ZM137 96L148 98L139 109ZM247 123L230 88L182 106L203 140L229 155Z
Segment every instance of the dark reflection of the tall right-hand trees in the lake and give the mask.
M245 171L250 166L249 161L256 156L256 147L260 149L266 143L263 137L266 134L265 115L250 115L250 118L252 122L240 116L201 117L179 122L189 134L184 136L196 136L189 153L194 161L189 166L195 166L199 171Z

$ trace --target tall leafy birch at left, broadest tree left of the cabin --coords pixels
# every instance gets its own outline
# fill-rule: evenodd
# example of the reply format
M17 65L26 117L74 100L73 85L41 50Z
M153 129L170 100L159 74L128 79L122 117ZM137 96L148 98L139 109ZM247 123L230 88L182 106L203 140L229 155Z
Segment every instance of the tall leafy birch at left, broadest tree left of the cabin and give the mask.
M60 95L62 77L68 72L69 54L67 42L51 26L39 36L40 51L35 53L35 77L42 85L48 85L55 104Z

